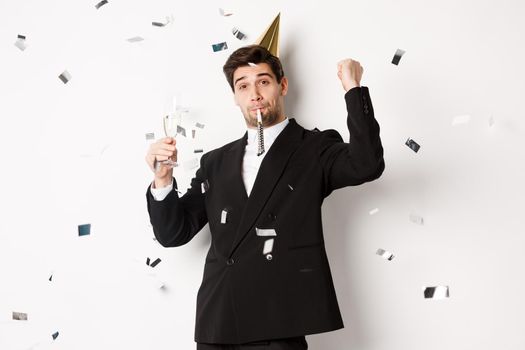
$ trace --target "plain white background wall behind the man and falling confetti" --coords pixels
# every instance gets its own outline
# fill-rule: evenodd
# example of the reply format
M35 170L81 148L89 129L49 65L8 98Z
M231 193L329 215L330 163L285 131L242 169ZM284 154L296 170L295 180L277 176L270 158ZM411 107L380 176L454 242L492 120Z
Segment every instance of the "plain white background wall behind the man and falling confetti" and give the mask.
M346 327L308 336L310 348L525 347L523 2L97 2L0 2L0 349L194 349L209 230L180 248L152 240L145 133L162 135L166 100L179 92L206 125L195 140L205 150L241 137L222 65L278 12L286 114L347 139L336 63L352 57L385 149L379 180L324 203ZM171 24L151 25L166 16ZM214 53L222 41L229 49ZM461 115L470 122L453 126ZM177 169L181 188L194 170ZM85 223L91 235L78 237ZM162 262L151 269L148 256ZM424 299L437 285L450 298Z

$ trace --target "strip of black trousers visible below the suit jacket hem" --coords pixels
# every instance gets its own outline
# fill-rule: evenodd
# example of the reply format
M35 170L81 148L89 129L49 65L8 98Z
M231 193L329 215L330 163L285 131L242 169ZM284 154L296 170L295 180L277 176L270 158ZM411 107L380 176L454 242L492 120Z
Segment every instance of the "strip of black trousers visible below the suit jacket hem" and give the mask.
M197 343L197 350L307 350L304 336L284 339L257 341L247 344L204 344Z

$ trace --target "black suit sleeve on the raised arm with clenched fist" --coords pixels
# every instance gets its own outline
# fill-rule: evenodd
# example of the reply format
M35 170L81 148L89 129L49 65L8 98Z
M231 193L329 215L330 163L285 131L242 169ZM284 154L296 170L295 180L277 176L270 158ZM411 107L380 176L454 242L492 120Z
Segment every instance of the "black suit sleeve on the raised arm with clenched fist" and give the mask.
M374 117L367 87L345 94L349 143L335 130L321 133L319 159L325 197L333 190L377 179L385 169L379 124Z

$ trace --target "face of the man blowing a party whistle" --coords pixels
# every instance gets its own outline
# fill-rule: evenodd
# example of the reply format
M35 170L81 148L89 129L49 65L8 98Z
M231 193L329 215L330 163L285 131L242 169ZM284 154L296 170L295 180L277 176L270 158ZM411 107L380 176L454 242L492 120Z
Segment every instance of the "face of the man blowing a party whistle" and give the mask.
M283 97L288 91L286 77L277 82L267 63L239 67L233 73L234 99L249 128L257 127L257 109L261 109L263 126L284 120Z

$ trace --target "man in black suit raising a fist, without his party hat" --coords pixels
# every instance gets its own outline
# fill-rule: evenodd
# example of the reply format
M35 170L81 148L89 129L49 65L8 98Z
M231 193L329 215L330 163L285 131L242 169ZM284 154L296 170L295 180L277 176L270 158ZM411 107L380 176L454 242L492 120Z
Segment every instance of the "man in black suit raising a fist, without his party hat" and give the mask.
M350 143L335 130L305 130L286 117L288 80L265 48L238 49L224 73L248 131L204 154L180 198L172 169L162 165L176 160L176 141L152 144L146 155L155 173L147 191L151 224L160 244L176 247L209 223L197 349L307 349L305 335L343 327L321 204L333 190L374 180L384 170L379 125L368 89L360 87L363 68L351 59L338 63Z

